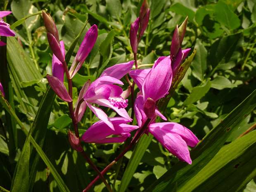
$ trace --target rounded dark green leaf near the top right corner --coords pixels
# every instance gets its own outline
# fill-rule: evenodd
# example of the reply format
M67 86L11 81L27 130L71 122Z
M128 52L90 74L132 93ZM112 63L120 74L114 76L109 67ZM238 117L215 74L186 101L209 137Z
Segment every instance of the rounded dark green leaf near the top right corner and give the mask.
M214 9L216 19L220 24L225 25L229 29L236 29L241 25L239 17L229 9L225 2L218 1Z

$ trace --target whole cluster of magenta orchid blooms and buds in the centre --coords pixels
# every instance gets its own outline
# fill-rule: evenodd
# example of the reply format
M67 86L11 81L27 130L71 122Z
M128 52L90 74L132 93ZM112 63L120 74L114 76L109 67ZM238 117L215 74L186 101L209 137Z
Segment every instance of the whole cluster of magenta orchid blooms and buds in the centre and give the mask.
M138 43L149 22L149 14L150 9L148 8L147 0L144 0L140 9L140 17L138 17L130 27L130 44L135 57ZM137 133L135 134L137 135L143 128L142 134L151 133L169 152L177 156L180 161L186 161L188 164L192 163L187 145L192 147L197 145L199 142L197 137L189 129L178 123L155 123L157 115L163 120L167 120L164 115L159 112L157 105L159 100L168 94L173 78L176 76L183 59L187 57L190 51L190 49L181 49L186 31L187 18L180 27L176 26L175 28L169 56L159 57L154 62L151 69L139 69L136 58L135 61L116 64L107 68L94 82L91 83L90 80L85 82L78 95L74 112L71 79L81 68L97 40L97 26L93 25L86 33L71 68L68 70L65 62L64 42L59 41L56 25L52 17L45 12L43 12L43 19L47 29L49 45L54 53L52 58L52 75L47 75L50 86L59 98L69 102L71 116L73 113L72 121L74 124L81 121L86 107L89 107L100 119L100 121L90 126L83 134L82 140L84 142L123 142L130 137L131 131L137 129ZM135 70L132 70L134 64ZM66 90L63 84L64 73L66 73L69 83L69 91ZM133 116L131 118L125 109L128 106L126 97L130 95L130 89L123 91L119 86L123 85L120 79L123 76L128 78L128 74L130 78L133 79L131 88L134 89L134 85L136 84L140 90L135 102L133 102L134 106L132 106L138 126L128 124L133 120ZM102 109L93 104L109 107L116 111L119 117L109 118ZM146 122L149 123L145 124ZM111 135L115 136L111 137ZM82 148L78 137L79 135L75 136L69 132L71 145L74 146L74 149L81 151Z

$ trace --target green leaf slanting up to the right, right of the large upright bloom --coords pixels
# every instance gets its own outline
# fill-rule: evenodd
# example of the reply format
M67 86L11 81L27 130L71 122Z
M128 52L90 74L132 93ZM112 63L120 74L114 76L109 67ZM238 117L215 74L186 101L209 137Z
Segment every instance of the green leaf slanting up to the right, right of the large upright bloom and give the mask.
M200 100L204 95L209 91L211 88L211 81L210 78L206 80L206 82L202 83L202 85L194 87L191 91L191 94L187 97L184 101L185 106L190 106L194 102Z

